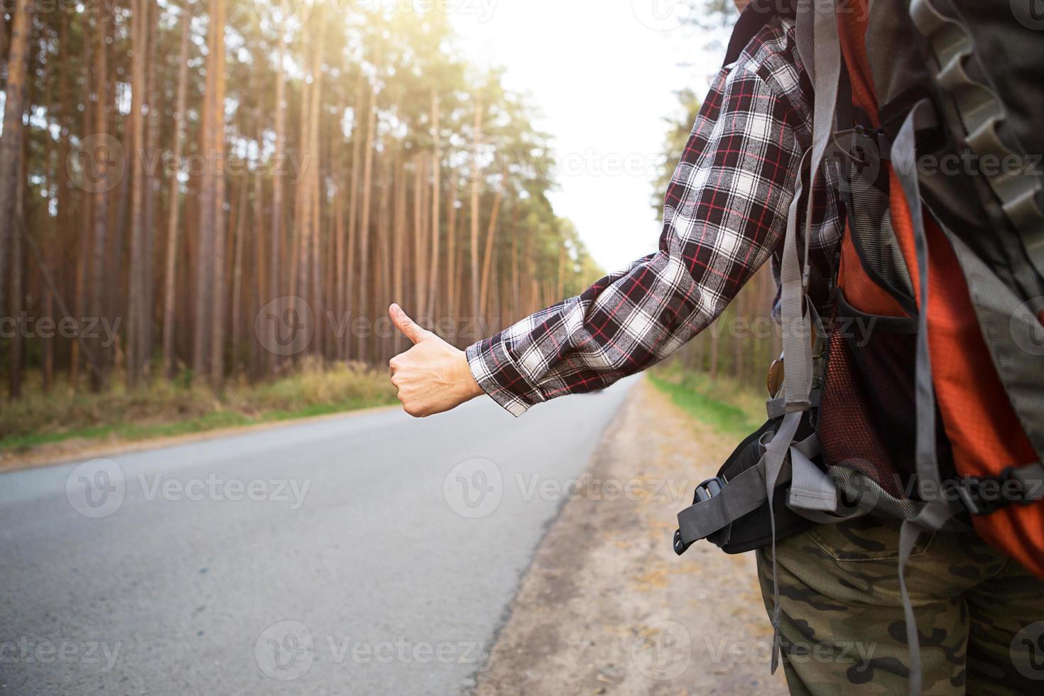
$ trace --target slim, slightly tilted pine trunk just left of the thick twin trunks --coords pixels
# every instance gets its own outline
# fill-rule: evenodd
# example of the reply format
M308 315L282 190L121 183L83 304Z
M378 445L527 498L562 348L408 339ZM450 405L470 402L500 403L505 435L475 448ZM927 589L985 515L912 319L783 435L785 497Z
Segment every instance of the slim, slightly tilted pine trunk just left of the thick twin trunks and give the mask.
M177 97L174 106L174 165L170 176L170 191L167 201L167 254L163 294L163 369L169 377L174 370L174 310L177 301L177 242L179 212L181 210L181 182L177 178L182 165L185 141L185 107L188 96L189 76L189 30L191 13L186 2L182 7L182 42L177 62Z

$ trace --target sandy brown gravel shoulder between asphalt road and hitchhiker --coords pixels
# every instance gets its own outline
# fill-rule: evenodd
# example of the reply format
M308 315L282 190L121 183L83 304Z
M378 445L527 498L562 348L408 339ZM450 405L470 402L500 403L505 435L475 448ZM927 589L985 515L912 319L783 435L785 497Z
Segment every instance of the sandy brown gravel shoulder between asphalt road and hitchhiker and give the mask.
M476 693L785 694L754 557L697 544L675 515L735 442L648 381L632 390L569 488Z

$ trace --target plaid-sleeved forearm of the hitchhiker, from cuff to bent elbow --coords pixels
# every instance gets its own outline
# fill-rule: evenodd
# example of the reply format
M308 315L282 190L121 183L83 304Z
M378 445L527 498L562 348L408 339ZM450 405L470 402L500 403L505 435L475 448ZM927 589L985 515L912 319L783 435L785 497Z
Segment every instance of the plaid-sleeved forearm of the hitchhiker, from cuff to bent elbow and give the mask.
M697 282L681 248L646 257L467 351L482 389L515 415L569 393L603 389L663 360L725 309L768 251L731 280ZM723 259L722 259L723 261ZM723 278L723 267L714 268ZM699 278L705 279L706 273Z

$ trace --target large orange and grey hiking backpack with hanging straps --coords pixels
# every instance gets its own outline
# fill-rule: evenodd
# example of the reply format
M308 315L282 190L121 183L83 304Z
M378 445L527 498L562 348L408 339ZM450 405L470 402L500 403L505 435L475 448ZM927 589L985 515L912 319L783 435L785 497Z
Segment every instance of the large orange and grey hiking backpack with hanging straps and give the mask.
M1044 19L1033 1L753 2L730 42L793 11L814 87L812 145L781 263L774 434L737 450L714 495L697 487L674 550L708 536L729 550L739 533L763 536L775 557L778 532L801 529L794 513L902 520L911 693L920 655L903 575L920 532L971 525L1044 577L1044 176L1034 154L1044 153ZM807 240L812 205L799 210L801 192L828 166L847 221L821 333L797 225ZM752 449L757 465L737 475Z

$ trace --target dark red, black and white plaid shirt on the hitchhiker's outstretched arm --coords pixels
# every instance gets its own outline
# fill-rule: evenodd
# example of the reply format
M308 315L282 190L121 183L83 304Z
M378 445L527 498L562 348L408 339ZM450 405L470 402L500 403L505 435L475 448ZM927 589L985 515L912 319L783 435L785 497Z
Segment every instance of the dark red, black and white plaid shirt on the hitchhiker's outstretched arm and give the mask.
M778 268L811 144L811 96L793 22L774 18L714 78L667 189L659 250L471 345L468 362L485 392L521 415L604 388L710 326L769 257ZM823 178L810 239L813 297L832 277L844 219Z

